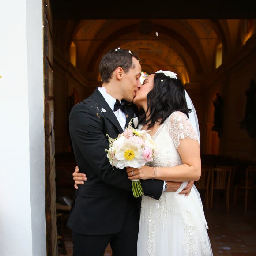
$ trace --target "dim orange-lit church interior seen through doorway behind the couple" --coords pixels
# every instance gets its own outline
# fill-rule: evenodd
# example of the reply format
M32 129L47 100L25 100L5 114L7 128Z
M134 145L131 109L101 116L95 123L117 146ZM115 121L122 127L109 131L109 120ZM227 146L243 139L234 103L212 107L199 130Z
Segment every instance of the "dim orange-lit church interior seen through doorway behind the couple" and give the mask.
M148 7L146 1L120 7L107 2L100 10L99 3L90 8L79 1L51 3L57 205L63 196L72 199L75 191L70 110L101 85L102 55L117 47L129 49L139 55L142 77L157 70L177 73L195 105L202 169L211 170L202 171L206 185L199 191L214 255L256 255L256 178L248 171L256 169L256 12L226 5L220 11L220 1L209 14L192 6L184 10L181 4L171 11ZM232 170L227 189L212 190L213 168ZM247 189L240 189L246 180L254 188L248 189L247 205ZM65 250L72 255L70 230L65 227L68 209L57 207L62 223L59 255ZM110 248L105 255L111 255Z

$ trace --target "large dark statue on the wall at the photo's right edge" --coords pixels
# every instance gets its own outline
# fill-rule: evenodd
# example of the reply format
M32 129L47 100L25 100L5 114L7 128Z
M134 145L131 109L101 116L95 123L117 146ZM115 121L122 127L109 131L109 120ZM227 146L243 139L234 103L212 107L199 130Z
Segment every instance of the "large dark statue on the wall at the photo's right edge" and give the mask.
M245 117L240 123L242 129L246 129L250 137L256 136L256 83L252 79L250 87L245 91L247 97L245 105Z

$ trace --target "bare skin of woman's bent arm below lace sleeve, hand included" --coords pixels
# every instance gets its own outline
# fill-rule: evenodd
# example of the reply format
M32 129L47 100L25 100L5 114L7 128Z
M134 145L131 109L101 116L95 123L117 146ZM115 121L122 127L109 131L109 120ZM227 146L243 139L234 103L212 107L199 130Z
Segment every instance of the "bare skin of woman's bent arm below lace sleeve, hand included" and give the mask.
M177 151L184 164L174 167L154 168L142 166L141 169L129 167L127 168L128 178L130 180L155 178L163 181L198 181L201 176L201 158L200 146L197 140L189 137L180 139Z

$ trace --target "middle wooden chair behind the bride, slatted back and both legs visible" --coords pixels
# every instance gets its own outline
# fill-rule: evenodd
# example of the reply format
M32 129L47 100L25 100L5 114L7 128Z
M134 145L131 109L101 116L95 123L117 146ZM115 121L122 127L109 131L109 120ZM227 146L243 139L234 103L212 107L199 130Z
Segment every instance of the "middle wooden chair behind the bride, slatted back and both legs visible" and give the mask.
M211 210L214 190L226 192L226 207L230 211L230 181L232 168L212 168L211 169Z

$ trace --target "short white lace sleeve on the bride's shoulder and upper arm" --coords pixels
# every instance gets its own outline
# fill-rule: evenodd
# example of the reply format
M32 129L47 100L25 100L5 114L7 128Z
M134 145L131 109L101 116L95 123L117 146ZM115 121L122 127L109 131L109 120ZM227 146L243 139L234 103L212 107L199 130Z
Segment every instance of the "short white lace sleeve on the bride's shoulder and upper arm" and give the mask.
M198 141L195 129L188 121L188 117L182 112L173 112L170 115L167 129L176 148L180 145L180 139L186 137Z

